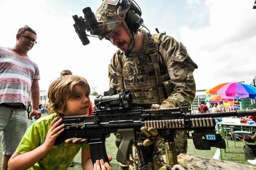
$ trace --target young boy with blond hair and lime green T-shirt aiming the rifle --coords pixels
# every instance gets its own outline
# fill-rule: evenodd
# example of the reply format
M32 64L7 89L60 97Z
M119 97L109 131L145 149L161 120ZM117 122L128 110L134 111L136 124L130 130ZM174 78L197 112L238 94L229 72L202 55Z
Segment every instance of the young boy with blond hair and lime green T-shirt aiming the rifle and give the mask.
M86 115L90 107L90 86L85 78L67 75L57 78L49 87L48 110L51 115L34 122L26 131L8 169L69 169L82 148L82 169L93 169L88 144L62 143L54 146L56 137L64 131L58 117ZM96 162L99 165L99 162ZM95 167L96 168L96 165ZM107 169L109 169L109 165Z

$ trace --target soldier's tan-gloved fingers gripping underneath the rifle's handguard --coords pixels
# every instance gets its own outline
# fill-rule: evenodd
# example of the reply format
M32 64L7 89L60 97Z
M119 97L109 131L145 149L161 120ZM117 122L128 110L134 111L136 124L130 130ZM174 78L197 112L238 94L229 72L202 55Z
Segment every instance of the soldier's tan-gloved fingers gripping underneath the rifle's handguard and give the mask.
M161 138L160 133L155 128L143 126L140 130L147 136L147 139L143 142L144 146L152 145L155 139Z

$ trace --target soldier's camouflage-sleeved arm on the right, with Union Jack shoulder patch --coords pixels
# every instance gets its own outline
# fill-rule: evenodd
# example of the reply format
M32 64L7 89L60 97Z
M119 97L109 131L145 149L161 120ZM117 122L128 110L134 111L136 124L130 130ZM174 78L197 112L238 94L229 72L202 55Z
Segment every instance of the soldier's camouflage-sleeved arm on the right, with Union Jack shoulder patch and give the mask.
M181 104L192 104L196 94L194 81L194 66L190 60L186 48L173 37L163 36L160 53L162 54L170 81L173 85L173 92L163 101L161 107L181 107Z

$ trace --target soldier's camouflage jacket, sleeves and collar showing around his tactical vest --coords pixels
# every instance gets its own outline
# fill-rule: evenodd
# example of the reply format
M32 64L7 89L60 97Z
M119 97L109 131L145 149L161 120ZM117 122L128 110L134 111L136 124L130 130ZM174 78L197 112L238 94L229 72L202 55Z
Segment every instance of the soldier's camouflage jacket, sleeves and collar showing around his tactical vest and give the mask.
M143 49L139 52L148 54L148 33L141 30L144 34ZM159 34L152 34L151 39L156 39ZM180 42L177 42L173 37L163 35L159 52L162 54L163 60L167 66L169 73L169 84L172 86L172 92L168 94L168 98L163 101L161 107L180 107L181 104L190 105L195 97L196 84L194 81L193 72L195 67L187 50ZM129 57L135 57L136 53L131 53ZM146 55L145 55L146 56ZM159 57L159 56L158 56ZM190 60L186 60L189 57ZM122 51L117 50L111 59L109 65L109 87L115 86L120 92L120 89L126 89L124 85L124 68L127 57ZM192 61L192 63L190 62ZM139 65L139 64L138 64ZM140 64L141 65L141 64ZM135 68L136 69L136 68ZM147 89L144 89L146 91ZM148 104L150 107L151 104Z

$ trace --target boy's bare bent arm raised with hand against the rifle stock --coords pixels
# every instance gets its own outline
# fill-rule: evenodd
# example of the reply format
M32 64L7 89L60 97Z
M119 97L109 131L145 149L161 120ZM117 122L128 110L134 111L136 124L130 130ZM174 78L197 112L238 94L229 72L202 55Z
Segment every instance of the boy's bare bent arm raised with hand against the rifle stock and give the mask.
M11 156L8 162L8 170L29 169L35 165L35 163L37 163L45 154L47 154L50 149L53 148L56 137L59 136L59 134L64 130L64 124L58 126L62 119L59 119L57 122L56 120L57 118L53 119L51 122L45 142L42 145L38 146L32 151L25 152L23 154L15 152Z

